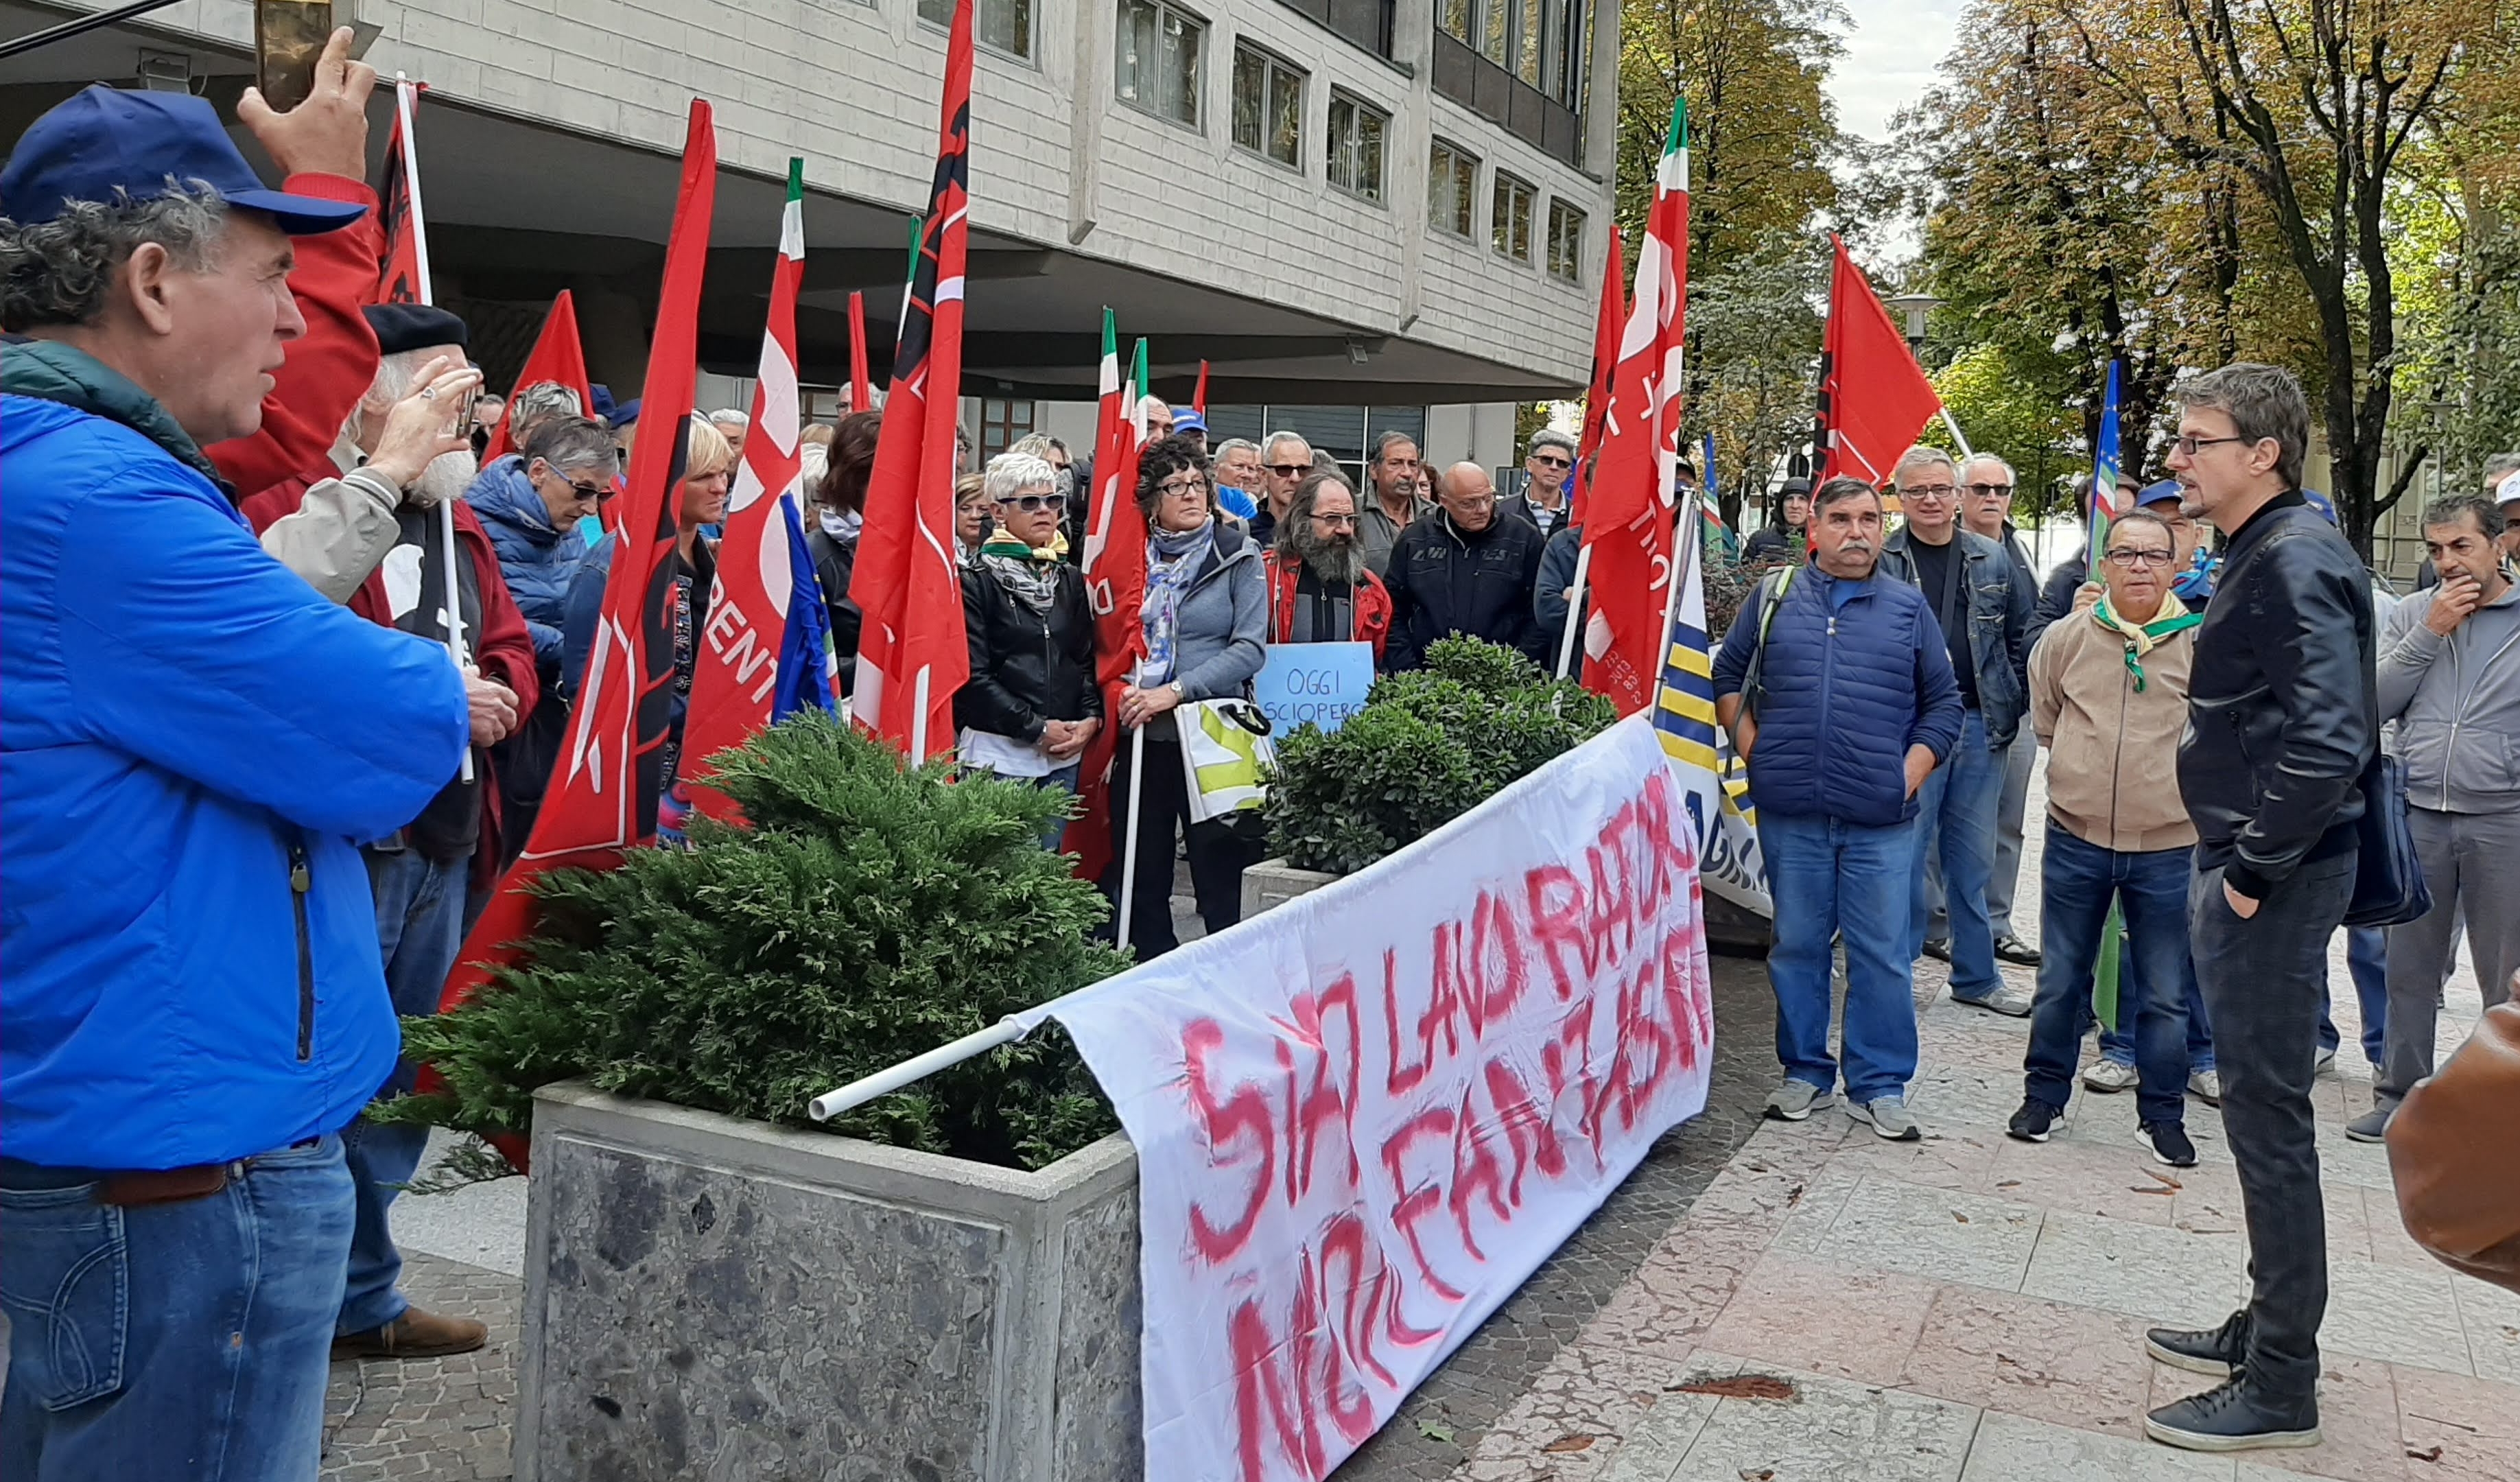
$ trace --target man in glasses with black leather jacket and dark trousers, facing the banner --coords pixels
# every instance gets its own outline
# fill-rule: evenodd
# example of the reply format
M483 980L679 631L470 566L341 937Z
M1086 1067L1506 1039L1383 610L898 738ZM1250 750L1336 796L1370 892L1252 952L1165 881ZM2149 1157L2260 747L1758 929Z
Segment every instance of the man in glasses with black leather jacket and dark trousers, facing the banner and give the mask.
M2200 1452L2313 1447L2328 1243L2311 1079L2379 746L2371 582L2301 497L2311 408L2291 373L2225 365L2177 398L2170 471L2187 512L2230 532L2197 630L2180 796L2197 824L2187 922L2253 1290L2220 1328L2147 1333L2155 1358L2230 1379L2155 1409L2145 1432Z

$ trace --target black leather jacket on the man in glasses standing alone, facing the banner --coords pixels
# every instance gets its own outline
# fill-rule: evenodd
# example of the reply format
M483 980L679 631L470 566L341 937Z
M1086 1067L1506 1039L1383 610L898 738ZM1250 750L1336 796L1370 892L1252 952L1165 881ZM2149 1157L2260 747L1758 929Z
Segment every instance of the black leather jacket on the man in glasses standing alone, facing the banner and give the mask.
M2197 870L2265 900L2303 859L2354 849L2379 749L2371 643L2371 577L2298 491L2233 532L2180 738Z

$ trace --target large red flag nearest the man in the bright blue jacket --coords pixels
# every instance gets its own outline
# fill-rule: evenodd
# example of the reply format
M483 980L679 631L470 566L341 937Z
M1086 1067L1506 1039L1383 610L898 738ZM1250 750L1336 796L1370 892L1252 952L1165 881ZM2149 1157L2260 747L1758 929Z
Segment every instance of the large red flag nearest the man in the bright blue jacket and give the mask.
M665 244L665 287L658 295L655 343L640 421L648 436L630 454L630 491L595 650L577 686L570 738L552 766L542 812L524 854L499 880L464 955L446 978L441 1008L454 1008L519 958L534 928L524 885L544 870L577 864L612 870L622 849L655 839L655 801L665 779L665 721L673 703L673 575L675 504L683 484L683 428L690 421L701 345L701 277L708 270L708 217L718 194L718 139L706 101L690 103L683 141L683 189ZM512 1159L517 1154L509 1154Z

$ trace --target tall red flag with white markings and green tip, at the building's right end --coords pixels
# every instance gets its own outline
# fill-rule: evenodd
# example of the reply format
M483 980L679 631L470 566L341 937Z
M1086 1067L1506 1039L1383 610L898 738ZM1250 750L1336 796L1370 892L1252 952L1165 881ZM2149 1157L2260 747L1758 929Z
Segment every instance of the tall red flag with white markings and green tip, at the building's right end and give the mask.
M1673 464L1681 456L1683 310L1688 302L1688 103L1671 103L1646 239L1603 408L1600 469L1583 542L1593 615L1583 686L1620 716L1653 703L1671 602Z

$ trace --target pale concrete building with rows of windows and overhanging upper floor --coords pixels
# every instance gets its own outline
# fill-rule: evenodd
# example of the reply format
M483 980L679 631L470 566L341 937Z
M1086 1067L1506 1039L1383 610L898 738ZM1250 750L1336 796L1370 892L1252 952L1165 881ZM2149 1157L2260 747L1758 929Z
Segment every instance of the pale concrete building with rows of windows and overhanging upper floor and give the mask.
M0 0L0 35L86 3ZM0 63L10 139L83 83L232 116L252 5L179 0ZM350 5L338 8L350 15ZM514 368L575 290L587 360L635 396L693 96L721 179L703 406L759 355L779 197L806 161L801 360L877 373L935 161L950 0L358 0L368 60L431 86L418 151L438 300ZM1101 307L1157 391L1232 421L1368 428L1515 464L1512 401L1575 393L1613 212L1613 0L978 0L965 393L995 449L1091 436ZM375 106L373 149L386 141ZM239 131L242 134L242 131ZM822 398L822 408L832 398ZM1353 434L1346 431L1353 426Z

